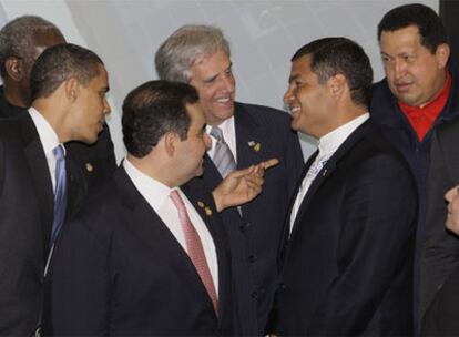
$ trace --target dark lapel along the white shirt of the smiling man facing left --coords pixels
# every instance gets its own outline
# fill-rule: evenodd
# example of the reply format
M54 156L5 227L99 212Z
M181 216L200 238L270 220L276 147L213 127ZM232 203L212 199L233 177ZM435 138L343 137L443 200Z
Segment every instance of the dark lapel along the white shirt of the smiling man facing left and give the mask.
M341 157L346 156L349 151L354 147L354 145L361 140L361 137L368 132L370 124L369 121L366 121L359 127L357 127L347 139L346 141L336 150L336 152L332 155L332 157L327 161L327 163L322 167L320 172L317 174L316 178L310 184L309 190L307 191L302 205L299 206L298 213L296 215L292 235L293 237L295 233L298 231L298 222L303 217L304 213L308 208L309 203L314 198L317 190L320 187L322 184L333 175L334 171L338 167L339 161Z

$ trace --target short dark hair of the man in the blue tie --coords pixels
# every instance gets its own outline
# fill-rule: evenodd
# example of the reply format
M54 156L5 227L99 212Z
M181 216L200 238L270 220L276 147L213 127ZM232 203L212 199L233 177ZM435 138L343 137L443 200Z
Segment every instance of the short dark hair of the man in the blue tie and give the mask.
M100 74L102 60L91 50L83 47L62 43L48 48L37 59L30 75L32 101L47 98L59 85L74 78L86 85Z

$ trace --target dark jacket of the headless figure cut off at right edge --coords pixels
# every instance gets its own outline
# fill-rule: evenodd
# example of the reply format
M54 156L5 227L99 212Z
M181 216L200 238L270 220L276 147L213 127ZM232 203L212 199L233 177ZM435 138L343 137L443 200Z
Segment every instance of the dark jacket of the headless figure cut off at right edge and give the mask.
M427 224L422 252L422 285L426 308L432 303L436 293L448 276L459 268L459 239L457 235L445 227L447 217L445 193L459 184L458 142L459 119L438 126L432 139L431 168L427 185ZM443 295L438 296L442 297ZM459 305L459 302L456 305ZM446 320L440 317L438 319ZM456 317L453 320L457 320Z

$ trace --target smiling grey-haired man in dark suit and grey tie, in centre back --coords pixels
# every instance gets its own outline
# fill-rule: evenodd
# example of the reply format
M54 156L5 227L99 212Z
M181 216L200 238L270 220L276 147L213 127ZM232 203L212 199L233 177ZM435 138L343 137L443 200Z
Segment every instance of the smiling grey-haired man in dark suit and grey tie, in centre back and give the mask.
M207 132L214 141L204 159L202 177L210 188L231 168L269 157L279 160L266 173L264 191L256 200L222 213L232 247L238 334L261 335L277 282L283 223L304 164L297 135L289 127L290 118L267 106L234 101L230 45L217 28L180 28L157 50L155 65L161 79L190 83L200 93ZM222 164L226 155L232 165Z

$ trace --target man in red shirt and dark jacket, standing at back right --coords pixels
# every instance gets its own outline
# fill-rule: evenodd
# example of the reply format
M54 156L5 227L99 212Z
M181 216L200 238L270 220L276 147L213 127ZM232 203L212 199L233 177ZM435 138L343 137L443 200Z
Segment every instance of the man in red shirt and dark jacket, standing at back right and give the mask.
M371 118L408 161L418 187L414 270L414 317L418 327L449 264L445 264L446 255L440 256L441 248L422 243L432 236L429 223L445 224L427 210L432 205L427 203L426 191L435 165L430 157L435 130L459 115L459 79L447 67L450 48L441 19L427 6L410 3L387 12L378 24L378 40L386 78L373 88ZM445 192L435 196L440 204Z

